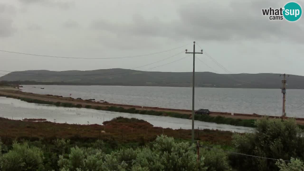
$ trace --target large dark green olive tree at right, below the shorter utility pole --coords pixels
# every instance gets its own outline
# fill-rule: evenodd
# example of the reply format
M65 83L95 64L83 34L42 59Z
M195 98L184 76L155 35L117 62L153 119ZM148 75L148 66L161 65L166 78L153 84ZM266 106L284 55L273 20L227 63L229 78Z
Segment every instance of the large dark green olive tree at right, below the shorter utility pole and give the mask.
M291 157L304 159L304 139L302 130L295 120L263 118L255 122L256 131L252 134L236 134L233 146L239 153L267 157L272 159L290 160ZM276 160L262 159L244 155L230 155L230 161L240 170L278 170Z

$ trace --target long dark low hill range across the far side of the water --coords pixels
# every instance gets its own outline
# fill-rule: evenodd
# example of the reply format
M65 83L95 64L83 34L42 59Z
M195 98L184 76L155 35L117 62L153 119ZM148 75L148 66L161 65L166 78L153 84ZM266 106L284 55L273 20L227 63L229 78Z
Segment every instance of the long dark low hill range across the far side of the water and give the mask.
M279 89L279 74L216 74L196 72L196 87ZM99 69L92 71L31 70L11 72L0 81L19 81L21 84L52 85L128 85L128 86L192 86L192 72L147 72L130 69ZM288 89L304 89L304 76L290 75Z

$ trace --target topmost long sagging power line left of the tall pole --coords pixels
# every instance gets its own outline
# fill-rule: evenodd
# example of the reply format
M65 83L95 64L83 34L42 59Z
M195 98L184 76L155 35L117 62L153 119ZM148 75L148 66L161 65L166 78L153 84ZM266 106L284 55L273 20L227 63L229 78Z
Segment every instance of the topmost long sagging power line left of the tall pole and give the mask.
M7 52L7 53L24 54L24 55L41 56L41 57L51 57L51 58L67 58L67 59L121 59L121 58L133 58L133 57L141 57L141 56L149 56L149 55L154 55L154 54L160 54L160 53L172 51L172 50L175 50L175 49L187 46L187 45L188 44L180 46L180 47L176 47L176 48L173 48L173 49L169 49L169 50L165 50L165 51L160 51L160 52L154 52L154 53L150 53L150 54L135 55L135 56L126 56L126 57L116 57L116 58L76 58L76 57L60 57L60 56L50 56L50 55L28 54L28 53L14 52L14 51L4 51L4 50L0 50L0 51Z

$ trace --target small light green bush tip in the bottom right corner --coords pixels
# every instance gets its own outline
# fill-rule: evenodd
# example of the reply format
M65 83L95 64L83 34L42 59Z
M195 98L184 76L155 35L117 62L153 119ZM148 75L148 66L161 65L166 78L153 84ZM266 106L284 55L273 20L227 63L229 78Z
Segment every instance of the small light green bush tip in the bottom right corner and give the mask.
M299 159L291 158L288 164L280 159L276 162L276 165L280 171L304 171L304 163Z

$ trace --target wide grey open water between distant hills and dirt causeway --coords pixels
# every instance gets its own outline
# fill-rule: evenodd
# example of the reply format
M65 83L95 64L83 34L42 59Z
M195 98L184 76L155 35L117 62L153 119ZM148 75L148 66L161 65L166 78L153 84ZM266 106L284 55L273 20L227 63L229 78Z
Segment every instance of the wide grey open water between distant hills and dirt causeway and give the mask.
M36 88L33 88L35 86ZM40 89L44 87L45 89ZM25 92L141 106L192 109L190 87L24 85ZM195 109L280 116L281 89L195 88ZM286 113L304 117L304 90L287 90Z

